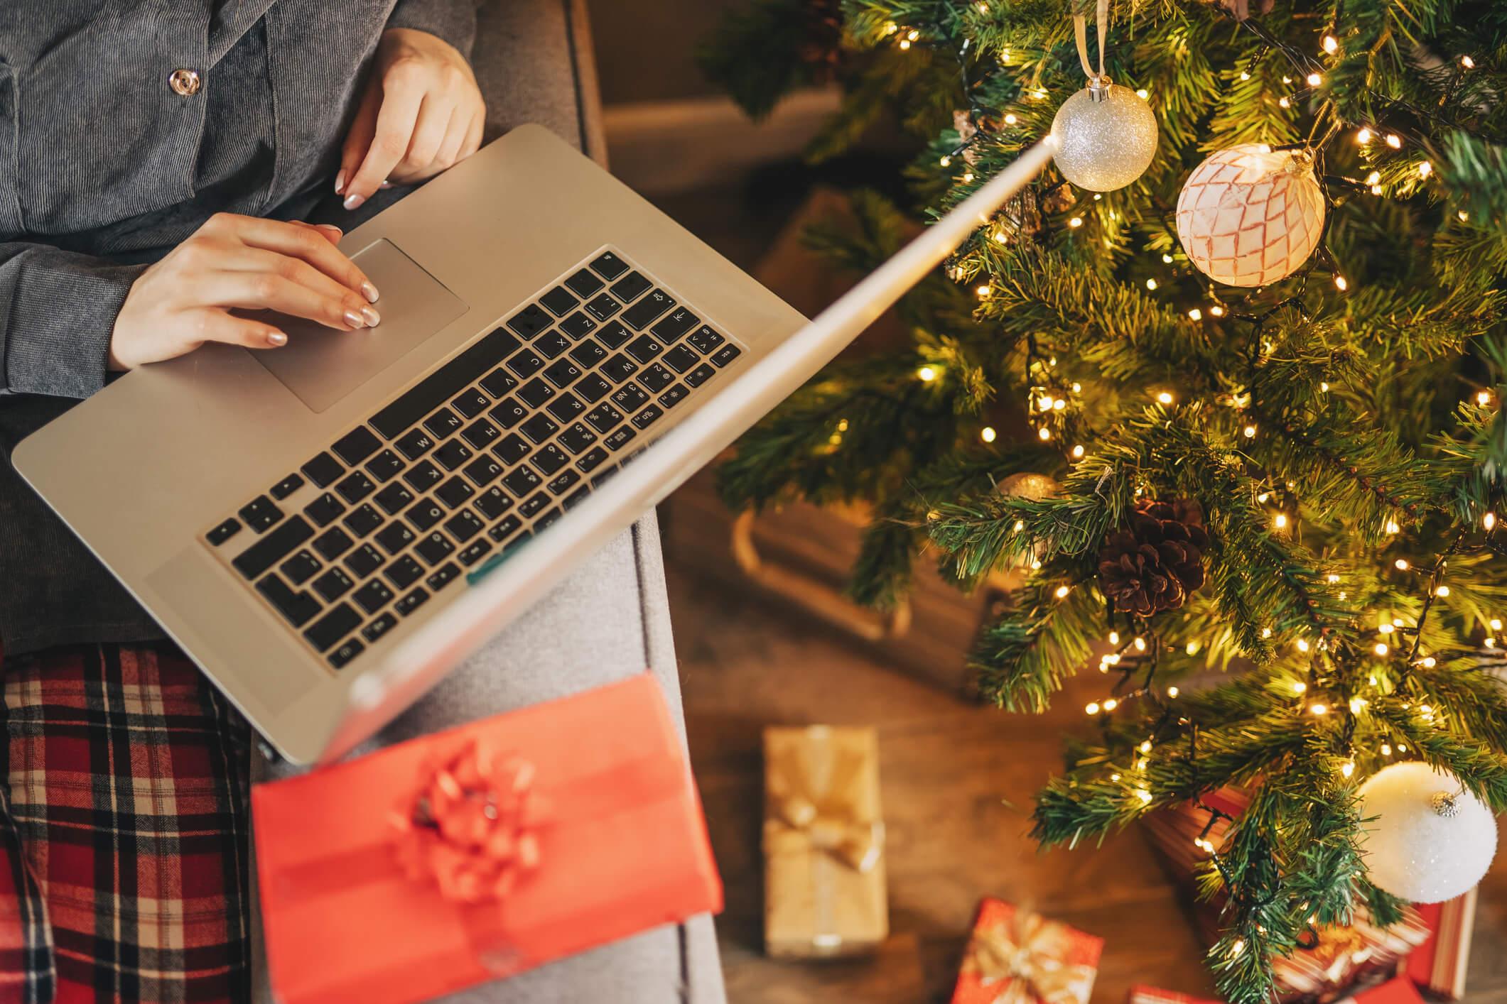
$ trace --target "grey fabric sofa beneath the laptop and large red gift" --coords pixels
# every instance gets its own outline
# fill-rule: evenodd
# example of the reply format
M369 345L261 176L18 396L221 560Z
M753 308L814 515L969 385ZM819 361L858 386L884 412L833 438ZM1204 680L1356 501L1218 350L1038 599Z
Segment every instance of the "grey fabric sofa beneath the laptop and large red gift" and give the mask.
M490 0L479 15L472 62L487 98L488 138L538 122L604 163L583 0ZM663 686L684 741L654 513L570 575L368 748L600 686L645 668ZM258 760L252 771L258 781L292 768ZM252 885L253 996L267 1002L273 998L265 978L255 863ZM446 999L720 1004L725 992L711 918L696 917Z

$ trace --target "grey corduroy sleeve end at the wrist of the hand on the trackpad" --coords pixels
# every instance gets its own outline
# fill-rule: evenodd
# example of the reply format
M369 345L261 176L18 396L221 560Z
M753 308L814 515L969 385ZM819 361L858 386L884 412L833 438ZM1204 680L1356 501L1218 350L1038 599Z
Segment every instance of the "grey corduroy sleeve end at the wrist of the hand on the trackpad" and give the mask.
M145 269L0 242L0 393L87 397L104 387L115 318Z

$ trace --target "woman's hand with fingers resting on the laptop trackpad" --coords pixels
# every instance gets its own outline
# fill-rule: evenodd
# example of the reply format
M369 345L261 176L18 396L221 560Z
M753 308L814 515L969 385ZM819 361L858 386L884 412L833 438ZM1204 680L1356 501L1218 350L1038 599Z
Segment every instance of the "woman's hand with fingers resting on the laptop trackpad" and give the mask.
M381 321L377 288L335 245L341 229L219 212L131 284L110 369L170 360L205 342L276 349L288 336L231 310L276 310L336 331Z

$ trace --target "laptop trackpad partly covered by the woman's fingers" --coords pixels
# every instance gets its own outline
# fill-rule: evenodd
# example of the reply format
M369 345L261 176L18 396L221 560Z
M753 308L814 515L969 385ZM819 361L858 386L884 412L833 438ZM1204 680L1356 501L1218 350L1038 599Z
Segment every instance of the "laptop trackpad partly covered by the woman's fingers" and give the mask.
M301 318L271 315L288 333L288 345L252 352L312 411L324 411L345 397L467 310L387 238L366 245L351 260L381 291L375 304L381 324L336 331Z

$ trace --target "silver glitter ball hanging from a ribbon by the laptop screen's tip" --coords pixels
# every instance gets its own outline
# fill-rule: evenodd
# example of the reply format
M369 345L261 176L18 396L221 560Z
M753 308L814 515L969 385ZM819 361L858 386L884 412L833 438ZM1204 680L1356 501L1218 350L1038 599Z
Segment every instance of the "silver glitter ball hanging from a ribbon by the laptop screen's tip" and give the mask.
M1106 84L1097 99L1084 87L1052 119L1056 169L1090 191L1124 188L1145 173L1156 155L1156 116L1129 87Z

